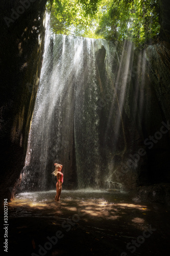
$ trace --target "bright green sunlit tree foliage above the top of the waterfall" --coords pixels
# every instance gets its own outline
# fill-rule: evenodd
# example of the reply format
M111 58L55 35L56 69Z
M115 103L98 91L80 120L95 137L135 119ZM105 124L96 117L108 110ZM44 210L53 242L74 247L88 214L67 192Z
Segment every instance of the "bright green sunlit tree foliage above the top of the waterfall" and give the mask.
M51 3L50 3L51 2ZM160 32L160 0L51 0L53 32L145 44Z

